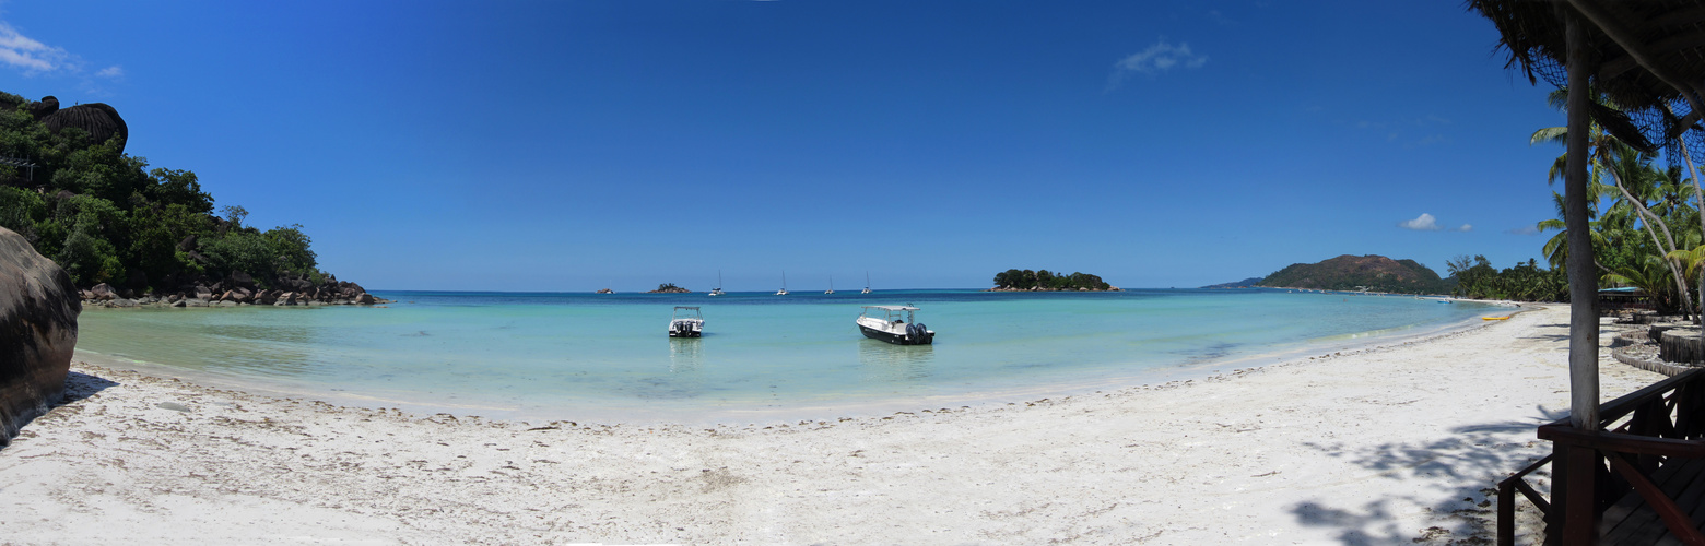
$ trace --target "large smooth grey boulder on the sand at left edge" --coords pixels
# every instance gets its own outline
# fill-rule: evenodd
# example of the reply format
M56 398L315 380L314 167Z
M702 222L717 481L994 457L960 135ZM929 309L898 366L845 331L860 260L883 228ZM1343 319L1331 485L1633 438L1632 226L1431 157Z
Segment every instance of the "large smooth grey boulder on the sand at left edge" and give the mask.
M0 228L0 446L65 395L84 311L72 276Z

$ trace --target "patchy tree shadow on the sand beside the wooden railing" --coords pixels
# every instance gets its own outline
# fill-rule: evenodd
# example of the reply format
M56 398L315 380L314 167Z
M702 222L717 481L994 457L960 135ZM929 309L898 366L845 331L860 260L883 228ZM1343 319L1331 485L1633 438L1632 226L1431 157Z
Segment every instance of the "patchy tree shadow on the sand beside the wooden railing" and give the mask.
M1538 408L1533 422L1488 422L1458 427L1446 437L1425 442L1388 442L1373 447L1309 444L1326 458L1374 471L1367 486L1388 481L1390 493L1361 507L1333 505L1315 498L1291 507L1298 522L1308 527L1337 529L1340 544L1494 544L1497 531L1497 481L1548 452L1548 444L1534 437L1540 424L1563 418L1567 412ZM1408 478L1437 481L1442 493L1405 492ZM1543 476L1536 475L1536 476ZM1395 505L1420 505L1429 512L1427 527L1402 529L1393 517ZM1536 532L1538 510L1517 498L1523 534Z

